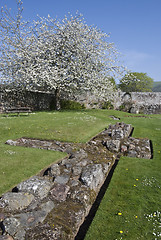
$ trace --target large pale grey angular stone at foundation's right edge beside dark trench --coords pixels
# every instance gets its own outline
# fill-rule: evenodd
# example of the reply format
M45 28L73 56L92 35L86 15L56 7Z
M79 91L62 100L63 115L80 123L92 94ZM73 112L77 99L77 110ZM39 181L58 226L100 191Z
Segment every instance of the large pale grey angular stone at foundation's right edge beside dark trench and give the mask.
M80 181L90 189L96 190L103 182L104 174L101 164L88 165L83 168Z

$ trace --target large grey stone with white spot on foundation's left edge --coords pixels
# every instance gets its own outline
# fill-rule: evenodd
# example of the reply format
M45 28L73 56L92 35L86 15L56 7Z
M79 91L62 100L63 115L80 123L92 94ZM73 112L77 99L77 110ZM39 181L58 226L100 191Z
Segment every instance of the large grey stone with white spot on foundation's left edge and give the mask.
M28 192L37 196L39 199L43 199L47 196L51 186L52 183L48 180L35 176L18 184L17 188L19 191Z

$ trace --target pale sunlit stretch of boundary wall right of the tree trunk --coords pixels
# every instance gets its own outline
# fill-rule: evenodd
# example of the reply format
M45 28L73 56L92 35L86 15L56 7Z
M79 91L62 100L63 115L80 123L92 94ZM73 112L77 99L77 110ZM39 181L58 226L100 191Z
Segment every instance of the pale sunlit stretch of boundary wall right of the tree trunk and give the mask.
M160 114L161 113L161 92L115 92L106 98L98 98L90 93L77 96L78 102L86 108L101 108L103 103L111 101L114 109L119 110L125 105L125 111L131 113Z

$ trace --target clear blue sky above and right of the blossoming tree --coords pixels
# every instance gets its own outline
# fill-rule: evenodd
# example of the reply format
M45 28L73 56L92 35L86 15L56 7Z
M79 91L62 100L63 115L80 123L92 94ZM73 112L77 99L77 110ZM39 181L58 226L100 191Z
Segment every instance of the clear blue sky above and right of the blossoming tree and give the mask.
M15 11L16 0L0 0L4 5ZM161 81L161 0L23 0L23 7L25 20L78 11L88 25L110 34L130 71Z

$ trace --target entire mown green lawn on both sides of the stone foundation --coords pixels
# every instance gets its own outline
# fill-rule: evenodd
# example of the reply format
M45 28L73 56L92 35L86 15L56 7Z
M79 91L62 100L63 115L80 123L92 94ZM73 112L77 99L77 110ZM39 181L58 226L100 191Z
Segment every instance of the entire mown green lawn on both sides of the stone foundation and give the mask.
M8 139L33 137L86 142L115 123L131 123L134 137L152 140L153 159L122 157L87 232L86 240L161 239L161 115L149 118L117 111L39 112L30 116L0 116L0 194L62 158L63 153L5 145Z

